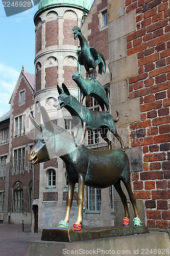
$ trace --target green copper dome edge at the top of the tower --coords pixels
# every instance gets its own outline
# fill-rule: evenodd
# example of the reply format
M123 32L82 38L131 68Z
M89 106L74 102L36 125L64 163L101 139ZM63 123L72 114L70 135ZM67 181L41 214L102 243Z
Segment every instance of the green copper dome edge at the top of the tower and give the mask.
M90 0L40 0L38 3L39 10L50 5L70 5L90 10Z

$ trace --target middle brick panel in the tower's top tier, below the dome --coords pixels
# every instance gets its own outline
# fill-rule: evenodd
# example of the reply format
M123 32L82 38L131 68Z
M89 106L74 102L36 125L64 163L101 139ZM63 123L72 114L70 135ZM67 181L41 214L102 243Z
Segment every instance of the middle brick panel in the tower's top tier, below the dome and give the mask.
M58 45L58 21L51 20L45 23L46 47Z

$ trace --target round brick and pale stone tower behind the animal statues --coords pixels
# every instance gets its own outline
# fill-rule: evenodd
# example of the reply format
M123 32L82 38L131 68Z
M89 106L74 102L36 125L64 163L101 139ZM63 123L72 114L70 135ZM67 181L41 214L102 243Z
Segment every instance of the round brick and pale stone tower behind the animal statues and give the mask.
M34 115L40 120L42 105L51 120L67 130L72 129L70 114L66 110L58 112L53 106L58 98L56 86L64 82L72 95L79 96L77 85L72 80L72 74L80 70L78 40L74 39L72 27L82 27L90 6L90 0L40 0L39 10L34 16ZM34 167L32 231L41 230L44 225L57 225L64 218L66 178L63 162L56 156Z

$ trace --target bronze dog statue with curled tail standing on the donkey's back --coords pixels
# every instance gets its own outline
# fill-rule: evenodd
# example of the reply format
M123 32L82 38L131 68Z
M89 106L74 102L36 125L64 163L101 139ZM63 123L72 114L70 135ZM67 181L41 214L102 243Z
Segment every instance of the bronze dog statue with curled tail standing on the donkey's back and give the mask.
M108 143L108 148L111 150L111 141L107 138L107 132L110 131L120 142L122 146L122 151L125 151L125 146L123 139L118 135L115 122L118 121L119 114L117 113L117 119L114 120L113 117L104 112L89 110L86 106L82 105L74 96L72 96L64 83L62 83L63 90L57 86L59 97L54 103L57 110L61 110L63 107L68 110L71 114L74 123L79 123L81 121L83 126L83 131L77 146L80 147L83 144L85 134L87 130L96 130L101 128L101 137ZM78 126L74 127L74 136L78 136Z

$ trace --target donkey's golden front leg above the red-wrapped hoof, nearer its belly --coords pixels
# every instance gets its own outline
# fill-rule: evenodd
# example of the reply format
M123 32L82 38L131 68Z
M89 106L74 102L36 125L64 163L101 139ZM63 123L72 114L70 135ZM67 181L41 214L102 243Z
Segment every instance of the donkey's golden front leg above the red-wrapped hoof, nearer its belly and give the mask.
M76 225L80 225L82 222L82 206L84 199L84 185L85 185L85 177L83 175L79 175L79 186L78 186L78 196L77 196L77 205L78 205L78 217L76 221Z

